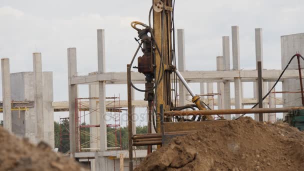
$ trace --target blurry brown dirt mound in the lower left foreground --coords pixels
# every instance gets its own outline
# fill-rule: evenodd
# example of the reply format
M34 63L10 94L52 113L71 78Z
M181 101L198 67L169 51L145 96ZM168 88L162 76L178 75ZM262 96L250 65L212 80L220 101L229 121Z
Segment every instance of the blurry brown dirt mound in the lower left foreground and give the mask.
M0 126L0 170L86 170L44 142L33 145Z

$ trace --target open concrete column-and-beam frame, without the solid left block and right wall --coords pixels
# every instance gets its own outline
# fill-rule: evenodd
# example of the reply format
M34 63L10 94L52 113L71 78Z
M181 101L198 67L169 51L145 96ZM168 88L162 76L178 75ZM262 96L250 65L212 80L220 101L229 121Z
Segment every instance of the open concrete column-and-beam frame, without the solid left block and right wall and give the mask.
M257 60L262 59L262 37L261 37L261 29L256 29L255 32L256 37L256 58ZM213 83L217 83L217 92L220 93L217 97L214 98L213 102L210 101L210 96L207 98L202 98L204 102L209 103L210 107L214 107L217 105L218 108L230 108L231 105L235 105L236 107L241 108L242 105L250 105L257 102L256 95L255 98L243 98L242 97L242 82L256 82L257 79L257 71L256 70L240 70L240 54L239 54L239 35L238 35L238 26L232 26L232 61L233 61L233 67L232 70L230 70L230 47L229 47L229 37L223 36L222 37L222 47L223 47L223 56L217 56L216 57L216 71L187 71L185 69L185 52L184 52L184 30L178 29L177 31L177 47L178 47L178 69L181 71L181 74L185 78L187 82L199 82L200 86L200 94L205 93L213 93ZM70 49L68 49L70 50ZM99 110L99 122L100 122L100 146L97 144L97 148L99 148L97 151L91 151L91 152L74 152L74 156L77 158L86 158L86 157L93 157L94 159L91 160L91 166L92 169L98 170L113 170L113 165L115 161L115 167L118 166L118 158L119 153L125 152L124 155L124 162L127 163L128 155L127 151L120 151L120 150L107 150L106 148L106 131L104 129L104 125L106 125L104 119L102 118L102 115L105 113L105 106L107 107L113 107L114 105L117 106L117 104L109 104L107 105L107 100L104 99L105 97L105 84L126 84L126 72L105 72L105 66L104 66L104 60L105 60L105 54L104 54L104 30L97 30L97 51L98 51L98 71L96 73L92 73L86 76L77 76L76 75L76 57L75 57L75 49L74 49L74 57L70 57L70 53L68 53L68 60L69 61L69 71L71 69L71 65L73 67L72 74L69 72L69 92L73 92L74 97L69 98L71 101L69 102L69 106L72 106L70 108L73 110L74 104L73 101L77 97L76 89L74 91L70 91L71 87L76 87L76 84L89 84L89 92L90 97L93 97L95 95L99 96L99 100L93 101L83 101L83 103L89 103L90 106L93 106L93 103L99 103L100 110ZM71 64L72 63L72 64ZM279 74L282 70L263 70L262 72L262 78L264 81L265 87L267 87L267 84L269 84L269 87L273 84L273 81L277 79ZM131 72L132 74L132 82L133 83L144 83L144 75L138 72ZM293 78L296 79L298 77L298 71L297 69L289 69L287 70L284 75L282 76L282 79L285 78ZM230 97L230 82L234 82L235 84L235 98ZM205 92L204 86L206 85L207 91ZM98 91L97 91L98 89ZM94 91L94 92L93 92ZM254 90L255 91L255 90ZM267 92L267 89L264 89L264 93ZM134 93L134 92L133 92ZM272 93L273 94L273 93ZM71 96L71 95L69 95ZM212 97L211 97L212 98ZM183 100L179 100L183 99ZM184 104L190 104L191 102L186 101L186 92L183 88L183 85L179 84L179 99L178 104L184 105ZM275 104L283 104L283 102L280 100L280 98L277 98L278 100L273 101L271 98L266 98L263 103L265 106L265 103L268 105L270 103L270 106L275 106ZM53 103L54 109L58 108L64 108L67 106L65 104L60 103ZM214 104L214 106L212 106ZM120 100L120 106L126 107L127 101L126 100ZM132 99L132 106L135 107L146 107L147 102L143 100L135 100ZM98 108L98 107L97 107ZM73 111L74 112L74 111ZM73 113L71 112L71 113ZM268 114L265 113L268 117ZM230 119L231 116L226 116L226 119ZM270 119L275 120L275 115L270 116ZM266 118L264 118L266 119ZM91 119L92 121L92 119ZM97 124L97 122L96 122ZM98 128L97 128L98 129ZM102 130L104 129L104 130ZM91 133L94 132L91 129ZM134 132L134 127L133 127ZM96 132L94 133L96 134ZM103 137L102 137L103 136ZM91 147L94 146L94 142L91 142ZM96 146L96 145L95 145ZM71 150L72 151L72 150ZM136 150L136 157L141 157L141 154L138 153L141 150ZM145 151L145 150L144 150ZM135 154L135 153L134 153ZM135 156L135 155L134 155ZM145 156L144 153L142 153L142 157ZM136 159L133 159L134 162ZM117 168L117 167L116 167Z

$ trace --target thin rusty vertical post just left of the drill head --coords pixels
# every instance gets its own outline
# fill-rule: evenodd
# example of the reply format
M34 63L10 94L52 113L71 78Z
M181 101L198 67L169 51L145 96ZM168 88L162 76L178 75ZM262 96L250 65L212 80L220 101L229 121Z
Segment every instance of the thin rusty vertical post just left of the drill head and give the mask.
M126 65L127 79L127 122L128 122L128 149L129 149L129 170L133 170L133 151L132 151L132 92L131 92L131 68Z

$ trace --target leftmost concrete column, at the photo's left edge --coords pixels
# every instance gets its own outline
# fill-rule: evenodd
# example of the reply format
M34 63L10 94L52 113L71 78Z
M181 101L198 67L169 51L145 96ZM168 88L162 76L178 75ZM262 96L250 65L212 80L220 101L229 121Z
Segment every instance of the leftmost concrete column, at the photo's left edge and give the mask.
M3 107L3 127L11 132L11 90L10 90L10 73L9 59L1 59L2 73L2 107Z

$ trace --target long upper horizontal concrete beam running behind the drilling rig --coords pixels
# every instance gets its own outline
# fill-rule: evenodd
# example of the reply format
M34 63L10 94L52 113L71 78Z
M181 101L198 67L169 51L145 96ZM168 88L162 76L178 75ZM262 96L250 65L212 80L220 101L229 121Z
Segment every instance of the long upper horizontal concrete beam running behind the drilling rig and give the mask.
M264 81L276 81L282 70L263 70ZM304 70L302 69L302 72ZM257 79L256 70L219 70L219 71L183 71L180 72L187 82L233 82L234 77L239 77L242 82L254 82ZM105 81L106 84L126 84L126 72L105 72L86 76L73 76L71 84L98 84ZM139 72L131 72L134 83L144 83L144 75ZM281 77L298 78L297 69L288 69Z

